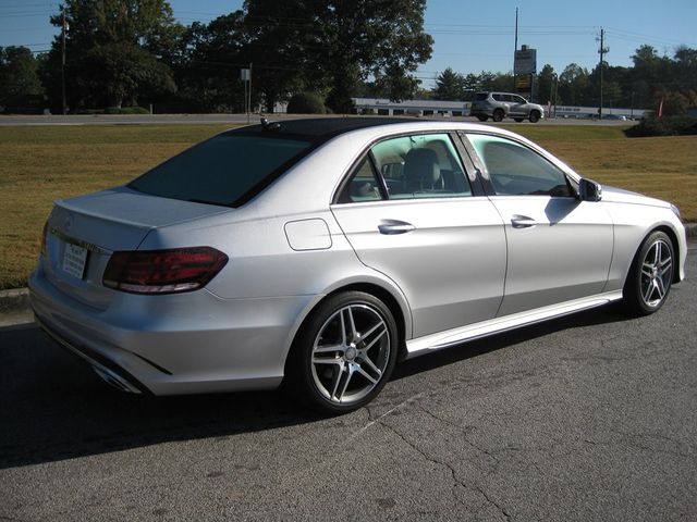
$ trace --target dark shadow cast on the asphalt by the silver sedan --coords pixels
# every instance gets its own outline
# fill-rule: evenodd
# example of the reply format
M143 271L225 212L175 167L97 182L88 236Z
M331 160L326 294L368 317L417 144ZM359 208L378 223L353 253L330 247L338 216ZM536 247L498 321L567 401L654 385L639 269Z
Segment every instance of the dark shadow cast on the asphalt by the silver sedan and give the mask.
M560 330L622 321L585 312L398 365L393 380L426 372ZM0 330L0 469L316 422L282 391L179 397L130 395L38 328ZM462 348L462 347L461 347Z

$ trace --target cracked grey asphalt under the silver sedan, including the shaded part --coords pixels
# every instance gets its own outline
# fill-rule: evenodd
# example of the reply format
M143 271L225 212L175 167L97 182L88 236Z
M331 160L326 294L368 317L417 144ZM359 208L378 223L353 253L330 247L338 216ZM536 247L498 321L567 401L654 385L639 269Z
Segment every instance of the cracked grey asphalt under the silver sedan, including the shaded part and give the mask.
M0 328L0 520L697 520L697 274L407 361L338 418L281 393L144 398Z

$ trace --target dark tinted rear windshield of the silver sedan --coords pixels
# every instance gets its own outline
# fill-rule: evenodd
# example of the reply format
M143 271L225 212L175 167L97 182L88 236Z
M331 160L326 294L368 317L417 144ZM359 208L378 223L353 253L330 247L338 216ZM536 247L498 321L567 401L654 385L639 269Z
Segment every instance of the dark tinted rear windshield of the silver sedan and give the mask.
M310 146L297 139L221 134L146 172L129 187L162 198L237 207Z

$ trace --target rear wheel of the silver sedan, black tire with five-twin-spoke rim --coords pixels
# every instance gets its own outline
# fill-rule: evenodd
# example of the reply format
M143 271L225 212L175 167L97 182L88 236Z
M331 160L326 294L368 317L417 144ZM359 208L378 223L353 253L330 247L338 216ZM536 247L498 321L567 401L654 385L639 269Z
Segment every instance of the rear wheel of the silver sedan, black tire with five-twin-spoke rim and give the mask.
M380 299L341 293L309 315L286 369L305 405L322 413L347 413L380 393L394 369L398 346L396 323Z

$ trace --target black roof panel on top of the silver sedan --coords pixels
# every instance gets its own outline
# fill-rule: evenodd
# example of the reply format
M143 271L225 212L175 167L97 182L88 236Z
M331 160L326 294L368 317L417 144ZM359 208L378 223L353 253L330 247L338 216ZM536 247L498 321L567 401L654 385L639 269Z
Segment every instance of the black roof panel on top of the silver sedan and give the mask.
M271 133L289 136L307 136L328 139L350 130L358 128L374 127L377 125L388 125L394 123L405 123L400 117L307 117L298 120L273 120L269 119L267 125L258 124L232 130L232 133Z

